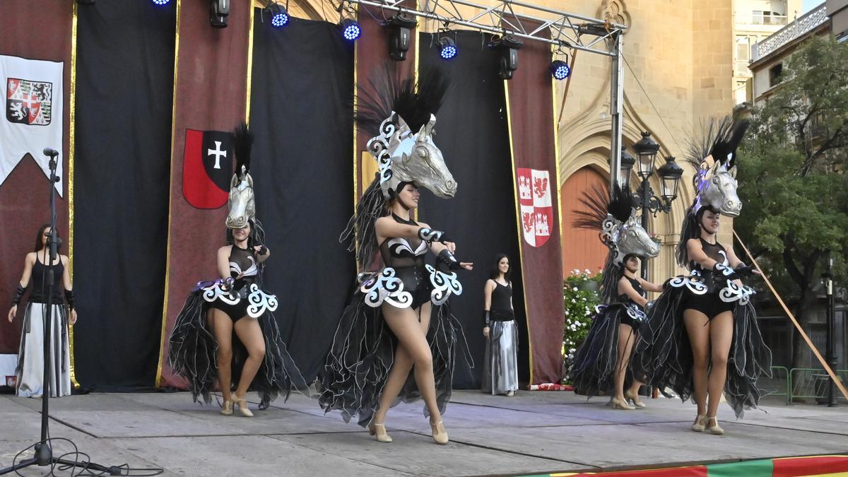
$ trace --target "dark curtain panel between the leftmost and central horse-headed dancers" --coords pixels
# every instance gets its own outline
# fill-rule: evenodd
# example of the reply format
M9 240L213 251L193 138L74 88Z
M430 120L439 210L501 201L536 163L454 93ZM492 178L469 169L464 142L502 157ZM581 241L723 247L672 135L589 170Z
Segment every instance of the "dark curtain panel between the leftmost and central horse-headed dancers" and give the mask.
M275 316L307 380L324 364L356 274L338 243L354 206L353 59L336 25L256 22L251 168L273 254L263 288L280 301Z

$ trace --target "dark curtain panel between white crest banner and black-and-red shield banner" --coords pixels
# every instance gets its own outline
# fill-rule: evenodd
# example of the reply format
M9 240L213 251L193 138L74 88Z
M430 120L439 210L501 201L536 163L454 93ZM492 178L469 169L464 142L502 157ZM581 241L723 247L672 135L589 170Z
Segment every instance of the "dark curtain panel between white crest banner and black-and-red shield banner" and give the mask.
M80 5L74 280L76 376L152 387L159 362L170 187L176 5Z

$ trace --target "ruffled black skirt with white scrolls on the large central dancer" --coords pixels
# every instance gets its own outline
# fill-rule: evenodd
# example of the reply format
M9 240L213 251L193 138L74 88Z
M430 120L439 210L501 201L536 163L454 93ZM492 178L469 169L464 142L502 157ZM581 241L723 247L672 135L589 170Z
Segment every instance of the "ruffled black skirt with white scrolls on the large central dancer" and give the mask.
M393 300L409 307L412 302L412 296L403 295L404 288L396 287L396 282L389 279L380 284L379 277L395 278L393 272L387 272L391 270L387 268L379 274L360 277L360 283L364 284L357 287L343 311L321 375L321 396L318 401L324 411L341 411L345 422L353 418L362 427L367 426L377 412L397 346L397 339L382 317L382 303ZM455 274L451 275L455 278ZM375 278L375 281L371 282L371 278ZM439 288L438 285L435 287L433 299L438 295ZM464 345L466 360L472 362L460 322L451 314L446 301L448 295L450 293L444 296L442 305L433 303L430 328L427 331L440 412L444 412L450 401L457 345ZM392 406L400 401L413 402L420 397L414 373L410 372ZM424 408L424 414L428 414L427 407Z

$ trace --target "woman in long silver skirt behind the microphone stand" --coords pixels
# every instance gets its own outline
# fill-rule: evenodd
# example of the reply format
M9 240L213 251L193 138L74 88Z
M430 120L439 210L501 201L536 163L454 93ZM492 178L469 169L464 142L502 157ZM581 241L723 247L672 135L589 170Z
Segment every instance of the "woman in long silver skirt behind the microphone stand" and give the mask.
M41 397L44 394L44 323L47 319L50 251L47 237L50 226L42 225L36 235L35 251L26 254L24 273L18 288L12 295L12 309L8 321L12 323L18 313L18 304L32 281L30 299L22 314L23 329L20 333L20 350L16 394L21 397ZM50 323L50 396L70 396L70 351L68 325L76 322L74 292L70 284L68 256L57 255L53 261L53 313ZM64 290L64 294L63 294ZM63 296L64 295L64 300ZM67 301L67 308L64 301Z

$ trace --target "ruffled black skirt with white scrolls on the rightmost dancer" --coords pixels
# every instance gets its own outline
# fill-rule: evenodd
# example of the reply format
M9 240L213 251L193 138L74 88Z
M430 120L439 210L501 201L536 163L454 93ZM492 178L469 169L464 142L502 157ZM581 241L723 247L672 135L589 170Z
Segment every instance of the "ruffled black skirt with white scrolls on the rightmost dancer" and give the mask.
M748 300L753 290L734 285L710 293L689 277L674 278L671 285L654 302L639 329L639 341L631 359L633 374L663 394L670 388L683 401L689 400L694 392L693 357L683 310L692 302L693 295L711 296L714 300L727 297L727 301L722 301L733 304L734 336L724 396L736 416L742 417L746 409L756 407L760 401L762 391L756 387L756 381L763 375L770 377L772 366L772 351L762 340L756 311ZM730 295L739 298L731 301Z

